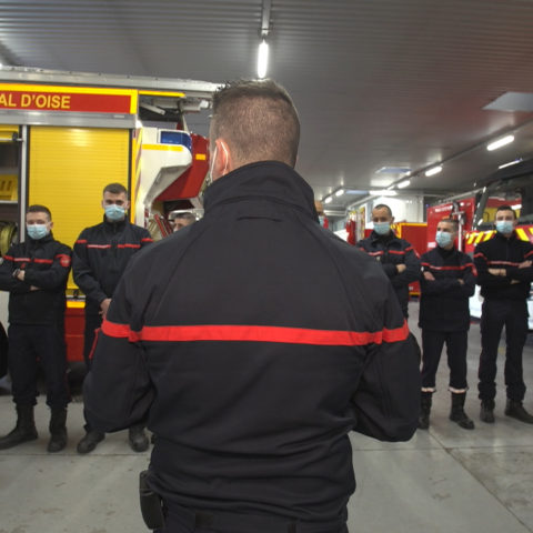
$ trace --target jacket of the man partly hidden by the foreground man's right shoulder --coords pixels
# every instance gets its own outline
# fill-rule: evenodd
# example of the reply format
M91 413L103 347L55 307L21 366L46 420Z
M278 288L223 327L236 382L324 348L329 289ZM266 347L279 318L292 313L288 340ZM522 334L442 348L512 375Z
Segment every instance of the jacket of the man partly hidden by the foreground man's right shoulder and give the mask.
M406 316L409 284L420 279L420 259L414 248L392 231L386 235L372 231L366 239L359 241L356 247L380 262L391 280L402 312ZM405 270L399 273L396 264L401 263L405 264Z

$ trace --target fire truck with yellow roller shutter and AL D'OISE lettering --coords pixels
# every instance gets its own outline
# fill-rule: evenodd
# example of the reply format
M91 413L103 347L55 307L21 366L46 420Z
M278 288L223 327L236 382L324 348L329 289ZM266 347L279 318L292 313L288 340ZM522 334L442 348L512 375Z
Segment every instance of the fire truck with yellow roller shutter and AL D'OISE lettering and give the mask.
M131 221L154 239L170 212L202 208L208 140L189 130L218 86L193 80L40 69L0 69L0 253L24 239L32 203L53 215L54 237L72 245L102 219L102 189L122 183ZM68 281L69 361L82 361L83 295ZM2 293L2 310L7 309ZM6 323L7 316L1 316Z

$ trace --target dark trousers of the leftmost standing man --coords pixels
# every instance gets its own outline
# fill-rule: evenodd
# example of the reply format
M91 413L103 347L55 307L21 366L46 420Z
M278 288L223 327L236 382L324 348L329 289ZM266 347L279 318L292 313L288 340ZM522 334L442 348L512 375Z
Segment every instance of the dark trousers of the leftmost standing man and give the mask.
M36 405L39 364L47 381L47 404L66 408L70 402L67 383L67 350L56 325L11 324L9 336L9 372L13 402Z

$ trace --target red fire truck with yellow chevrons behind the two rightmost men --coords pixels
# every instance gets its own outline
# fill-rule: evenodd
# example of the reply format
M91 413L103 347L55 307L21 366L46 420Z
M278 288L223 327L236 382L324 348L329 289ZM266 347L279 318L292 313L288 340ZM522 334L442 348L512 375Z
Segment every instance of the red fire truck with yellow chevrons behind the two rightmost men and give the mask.
M476 244L494 234L494 214L500 205L510 205L516 213L516 234L533 242L533 159L499 170L479 182L480 188L469 194L432 205L428 210L428 247L435 247L439 220L451 217L460 223L457 245L473 255ZM533 330L533 295L529 299L530 330ZM470 313L481 316L480 288L470 300Z

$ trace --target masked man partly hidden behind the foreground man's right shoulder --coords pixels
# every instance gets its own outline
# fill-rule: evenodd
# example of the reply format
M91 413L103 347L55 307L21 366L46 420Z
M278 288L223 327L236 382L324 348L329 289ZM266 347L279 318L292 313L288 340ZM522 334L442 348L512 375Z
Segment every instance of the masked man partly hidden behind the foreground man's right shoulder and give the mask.
M420 259L414 248L392 231L394 222L389 205L380 203L372 209L374 229L356 247L380 262L391 280L403 315L409 315L409 284L420 279Z

